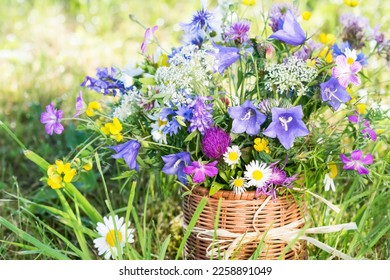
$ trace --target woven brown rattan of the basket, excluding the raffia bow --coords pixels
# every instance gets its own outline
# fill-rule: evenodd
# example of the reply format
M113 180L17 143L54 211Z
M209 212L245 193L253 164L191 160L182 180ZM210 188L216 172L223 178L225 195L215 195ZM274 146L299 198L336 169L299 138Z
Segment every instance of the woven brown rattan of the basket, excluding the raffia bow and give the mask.
M222 190L218 191L212 197L208 193L209 189L195 187L192 194L184 198L184 222L187 225L203 197L207 198L207 204L196 224L196 227L201 229L214 229L219 198L223 198L223 200L218 228L232 233L265 232L269 228L281 227L304 218L305 205L303 203L298 205L292 196L278 197L276 202L270 200L256 219L254 219L256 211L266 197L256 197L255 191L247 191L241 195L236 195L231 191ZM205 240L201 235L191 233L185 247L186 258L196 260L210 259L206 255L207 248L210 244L211 241ZM256 250L258 244L259 240L240 246L235 250L230 259L248 259ZM278 259L286 246L287 244L282 241L264 242L264 249L259 259ZM222 258L222 256L219 258ZM290 260L306 258L307 252L304 242L297 242L284 255L284 259Z

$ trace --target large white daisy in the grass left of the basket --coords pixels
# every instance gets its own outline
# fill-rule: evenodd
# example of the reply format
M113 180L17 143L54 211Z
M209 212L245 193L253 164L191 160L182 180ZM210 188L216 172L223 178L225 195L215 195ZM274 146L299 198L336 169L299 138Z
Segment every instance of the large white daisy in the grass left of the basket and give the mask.
M109 259L111 256L115 259L118 256L117 245L122 249L126 242L134 242L134 229L129 228L130 222L126 226L123 217L118 219L117 215L115 215L114 221L111 216L104 217L103 220L104 223L97 223L96 227L101 237L94 239L93 243L95 248L98 249L99 255L104 255L105 259Z

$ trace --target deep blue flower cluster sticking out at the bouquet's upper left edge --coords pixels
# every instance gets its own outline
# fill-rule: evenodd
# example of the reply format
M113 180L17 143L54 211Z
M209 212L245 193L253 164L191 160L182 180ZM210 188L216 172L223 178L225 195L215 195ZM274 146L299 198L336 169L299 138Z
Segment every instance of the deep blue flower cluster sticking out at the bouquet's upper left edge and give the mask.
M85 77L85 80L81 83L82 87L87 87L97 93L103 93L104 95L112 93L116 95L118 92L126 94L127 88L123 82L116 78L117 70L111 67L111 73L107 67L97 68L97 79L90 76Z

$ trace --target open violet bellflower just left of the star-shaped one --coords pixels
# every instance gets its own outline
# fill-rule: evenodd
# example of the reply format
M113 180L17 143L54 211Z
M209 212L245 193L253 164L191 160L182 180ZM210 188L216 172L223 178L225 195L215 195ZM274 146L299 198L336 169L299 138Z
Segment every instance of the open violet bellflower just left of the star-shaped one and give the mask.
M249 100L241 106L230 107L228 109L230 117L233 119L232 132L249 135L259 134L260 126L265 122L265 115Z

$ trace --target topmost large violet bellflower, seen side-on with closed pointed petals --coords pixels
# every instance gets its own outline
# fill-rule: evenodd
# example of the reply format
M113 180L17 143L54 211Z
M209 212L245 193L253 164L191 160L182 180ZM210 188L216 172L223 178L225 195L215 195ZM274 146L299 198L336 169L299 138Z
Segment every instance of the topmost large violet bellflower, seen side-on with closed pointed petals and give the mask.
M305 32L299 25L291 11L287 11L286 18L279 24L278 31L273 33L269 39L276 39L287 44L298 46L306 40Z

